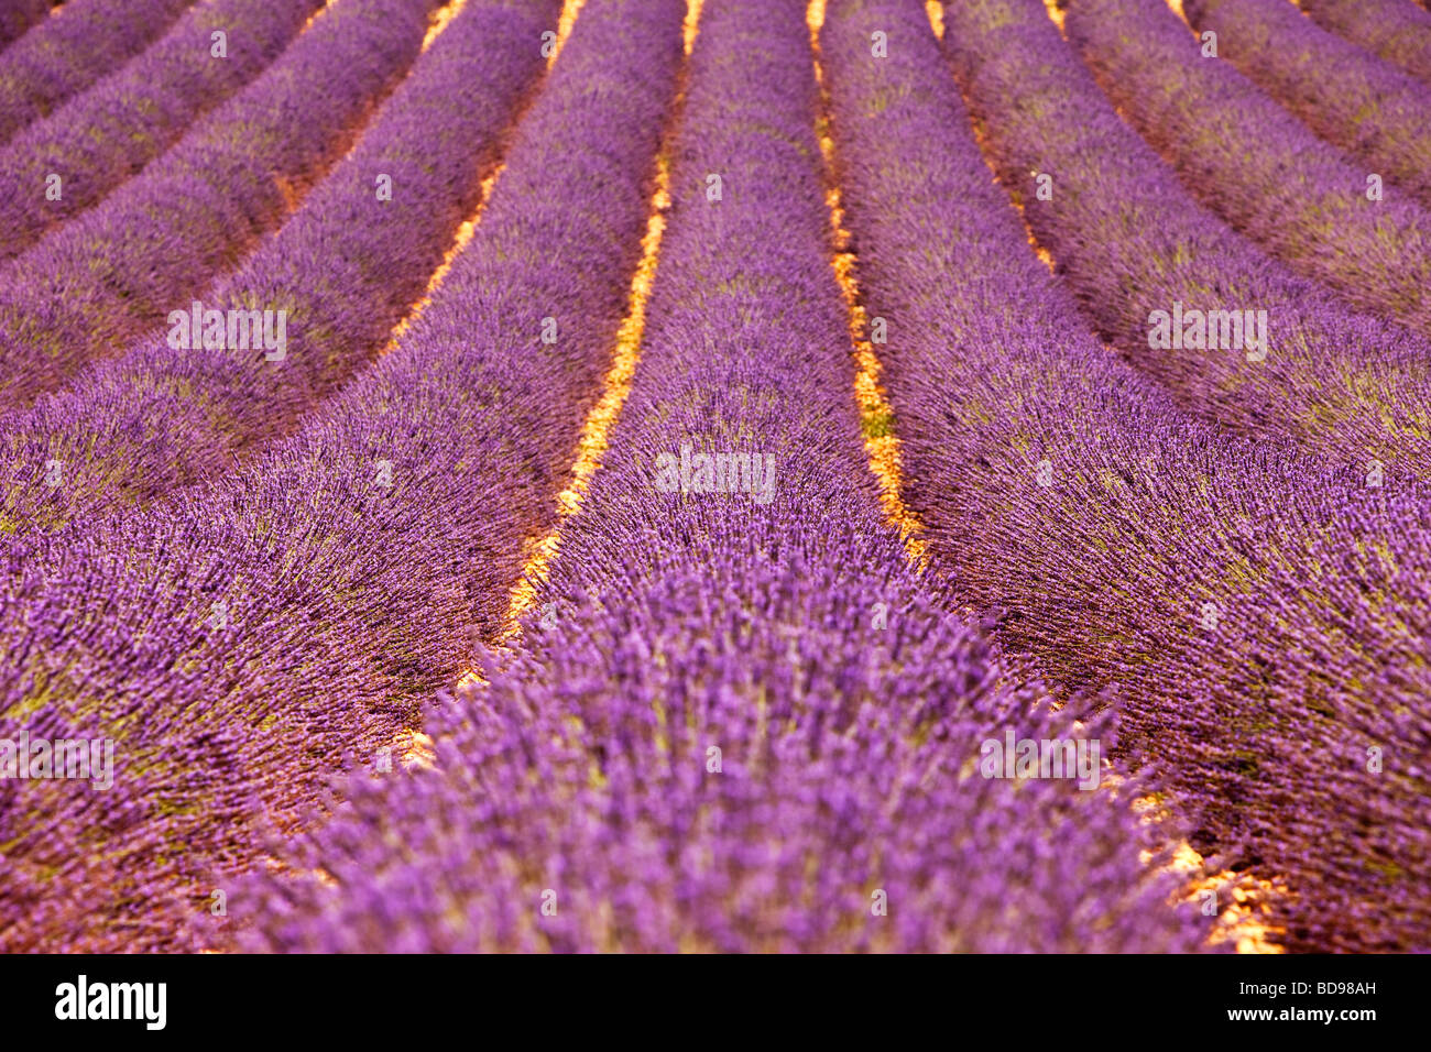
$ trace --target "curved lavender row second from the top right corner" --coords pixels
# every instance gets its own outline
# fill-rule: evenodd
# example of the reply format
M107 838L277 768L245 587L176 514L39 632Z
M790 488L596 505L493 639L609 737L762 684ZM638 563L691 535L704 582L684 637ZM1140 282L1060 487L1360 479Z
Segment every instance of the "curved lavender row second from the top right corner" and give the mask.
M1183 11L1193 29L1218 34L1219 57L1317 135L1431 203L1431 86L1286 0L1186 0Z

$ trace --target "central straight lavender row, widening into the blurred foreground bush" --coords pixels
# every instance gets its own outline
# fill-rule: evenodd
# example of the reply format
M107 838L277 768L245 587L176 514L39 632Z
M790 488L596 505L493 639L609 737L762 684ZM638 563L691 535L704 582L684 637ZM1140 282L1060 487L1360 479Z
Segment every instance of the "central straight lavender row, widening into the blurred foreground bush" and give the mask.
M436 770L358 779L283 873L253 877L245 946L1198 946L1202 919L1139 863L1152 830L1126 799L977 770L1006 730L1086 739L999 686L883 521L801 16L704 6L645 349L541 588L551 610L487 656L487 686L431 710ZM663 491L683 448L758 467ZM1086 733L1109 741L1110 721Z

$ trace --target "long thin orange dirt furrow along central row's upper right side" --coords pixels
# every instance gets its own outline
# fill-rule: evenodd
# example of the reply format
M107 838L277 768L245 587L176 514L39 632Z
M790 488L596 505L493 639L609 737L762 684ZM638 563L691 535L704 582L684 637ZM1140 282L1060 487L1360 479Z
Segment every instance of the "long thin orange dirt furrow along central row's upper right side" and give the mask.
M830 93L824 83L824 67L820 62L820 27L824 26L826 0L810 0L806 9L806 26L810 29L810 49L814 54L814 79L820 90L821 113L830 112ZM930 11L930 17L933 11ZM924 525L904 504L903 479L900 475L900 447L894 434L894 409L890 406L884 388L880 385L880 359L869 338L869 312L860 295L857 260L850 250L850 232L844 228L844 206L840 199L834 139L830 136L829 119L819 129L820 156L824 159L826 195L830 209L830 230L834 240L834 278L840 283L840 295L849 311L850 342L854 351L854 401L860 406L860 424L864 432L864 452L870 471L880 485L880 504L884 517L893 524L904 541L904 550L919 565L927 558L927 544L923 540Z

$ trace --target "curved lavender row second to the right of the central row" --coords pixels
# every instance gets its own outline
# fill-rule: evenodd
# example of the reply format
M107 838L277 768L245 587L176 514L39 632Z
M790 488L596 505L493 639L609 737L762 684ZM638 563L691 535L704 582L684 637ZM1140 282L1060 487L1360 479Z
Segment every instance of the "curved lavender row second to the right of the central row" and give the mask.
M1431 478L1427 342L1349 311L1193 202L1039 0L949 4L946 17L946 50L1000 179L1123 355L1239 432L1294 438L1361 474L1382 464L1392 490ZM1043 175L1050 200L1039 199ZM1192 311L1242 321L1242 346L1231 322L1183 341L1198 335ZM1259 321L1265 345L1254 346Z

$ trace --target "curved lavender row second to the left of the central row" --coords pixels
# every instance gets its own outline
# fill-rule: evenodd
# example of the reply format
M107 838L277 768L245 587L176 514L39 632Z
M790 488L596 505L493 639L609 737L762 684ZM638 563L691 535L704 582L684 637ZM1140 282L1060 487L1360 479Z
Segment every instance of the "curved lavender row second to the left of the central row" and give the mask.
M192 332L156 335L0 418L14 465L0 531L53 530L212 477L371 362L477 205L558 10L558 0L469 0L352 153L205 295L203 309L225 318L270 312L273 335L283 312L280 351L259 332L245 348L225 338L209 349ZM172 306L192 329L189 301Z

